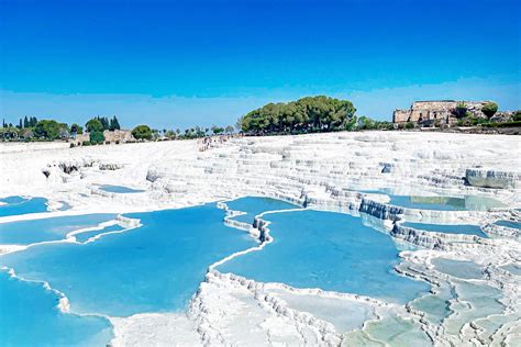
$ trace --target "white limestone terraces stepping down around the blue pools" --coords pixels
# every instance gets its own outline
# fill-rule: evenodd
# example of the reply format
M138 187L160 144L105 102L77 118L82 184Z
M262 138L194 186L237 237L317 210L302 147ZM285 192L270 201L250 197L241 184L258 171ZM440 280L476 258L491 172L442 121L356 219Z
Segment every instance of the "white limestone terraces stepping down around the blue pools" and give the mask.
M521 339L521 286L519 277L502 267L521 267L521 246L516 230L496 226L494 222L521 220L516 210L521 208L520 158L521 145L516 136L418 132L242 137L215 144L202 153L196 141L79 148L68 148L67 144L1 144L0 197L47 198L56 211L45 216L153 211L244 195L271 197L353 214L362 211L383 219L381 230L397 243L406 240L425 247L402 251L403 261L397 271L433 283L434 295L445 284L459 290L458 279L435 270L432 259L437 257L476 262L486 269L486 277L470 282L490 286L503 295L503 314L473 318L469 312L475 303L467 298L452 301L454 318L435 325L410 305L389 305L369 298L313 289L297 290L280 283L255 283L211 270L187 315L146 313L111 318L113 345L380 344L381 323L380 326L402 332L400 336L409 342L415 340L420 328L437 345L513 346ZM109 193L98 189L98 184L145 191ZM414 195L492 197L506 208L422 211L391 206L385 194L356 191L386 187ZM66 201L71 209L57 211L59 201ZM7 216L0 217L0 223L43 216ZM410 231L401 226L403 219L477 223L497 237ZM232 224L229 221L231 226L245 227ZM252 237L265 233L262 221L258 227L250 231ZM0 250L10 248L0 245ZM369 320L354 331L343 331L336 313L324 315L297 304L312 300L326 307L364 305L359 310ZM458 317L464 321L461 327L454 323ZM348 323L353 327L357 324Z

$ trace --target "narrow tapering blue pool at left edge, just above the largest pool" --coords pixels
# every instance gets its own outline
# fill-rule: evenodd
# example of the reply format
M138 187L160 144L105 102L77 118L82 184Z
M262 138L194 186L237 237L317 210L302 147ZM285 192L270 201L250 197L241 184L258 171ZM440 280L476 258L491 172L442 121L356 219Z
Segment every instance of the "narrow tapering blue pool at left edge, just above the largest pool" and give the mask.
M99 213L1 223L0 245L30 245L64 239L73 231L114 219L115 214Z

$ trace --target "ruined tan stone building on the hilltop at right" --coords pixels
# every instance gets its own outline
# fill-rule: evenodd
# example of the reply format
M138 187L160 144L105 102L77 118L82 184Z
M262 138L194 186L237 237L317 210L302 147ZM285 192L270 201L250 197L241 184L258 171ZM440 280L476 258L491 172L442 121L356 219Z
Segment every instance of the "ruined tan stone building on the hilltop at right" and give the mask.
M409 110L395 110L392 122L397 124L412 122L423 126L454 124L457 122L458 103L464 103L467 112L470 112L473 116L486 117L481 109L488 102L490 101L414 101Z

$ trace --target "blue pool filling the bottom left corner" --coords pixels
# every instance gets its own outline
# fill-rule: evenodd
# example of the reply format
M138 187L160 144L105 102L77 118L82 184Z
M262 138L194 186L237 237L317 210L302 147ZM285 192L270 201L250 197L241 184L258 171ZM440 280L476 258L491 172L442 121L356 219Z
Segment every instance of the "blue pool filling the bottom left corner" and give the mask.
M41 283L0 270L0 289L2 346L106 346L112 338L110 322L62 313L57 294Z

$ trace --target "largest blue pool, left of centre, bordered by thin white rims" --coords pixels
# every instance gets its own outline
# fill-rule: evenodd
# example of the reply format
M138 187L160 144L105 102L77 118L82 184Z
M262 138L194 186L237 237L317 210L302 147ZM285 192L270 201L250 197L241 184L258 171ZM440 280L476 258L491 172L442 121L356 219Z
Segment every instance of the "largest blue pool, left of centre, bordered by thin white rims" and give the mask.
M214 204L132 213L143 226L87 244L37 245L0 258L65 293L71 311L129 316L184 311L208 266L256 243Z

